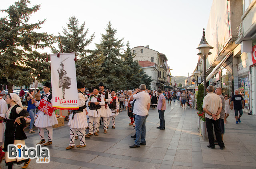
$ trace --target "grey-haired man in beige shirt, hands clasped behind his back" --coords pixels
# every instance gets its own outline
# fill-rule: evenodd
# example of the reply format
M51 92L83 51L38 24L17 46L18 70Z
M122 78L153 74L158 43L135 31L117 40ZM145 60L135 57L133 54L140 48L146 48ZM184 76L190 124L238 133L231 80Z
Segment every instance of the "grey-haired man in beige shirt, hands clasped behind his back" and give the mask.
M212 85L207 87L208 94L204 96L203 101L203 111L205 112L205 122L206 122L206 129L208 132L208 138L209 138L209 145L207 145L208 148L214 149L214 136L213 136L213 128L212 124L214 125L214 132L216 136L216 140L218 142L218 145L220 146L220 149L224 149L224 143L221 138L221 132L219 128L219 118L220 118L220 112L222 110L222 102L220 96L215 94L214 87Z

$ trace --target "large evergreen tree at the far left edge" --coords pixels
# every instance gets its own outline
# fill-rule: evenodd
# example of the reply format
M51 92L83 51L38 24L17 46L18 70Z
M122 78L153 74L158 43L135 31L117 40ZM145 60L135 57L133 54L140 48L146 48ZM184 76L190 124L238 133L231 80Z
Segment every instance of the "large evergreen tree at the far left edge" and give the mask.
M50 63L45 62L47 53L44 49L53 43L53 35L46 32L37 33L46 20L29 24L32 13L40 5L28 7L29 0L19 0L6 10L7 16L0 18L0 81L7 83L9 93L12 86L31 84L35 77L38 80L50 79Z

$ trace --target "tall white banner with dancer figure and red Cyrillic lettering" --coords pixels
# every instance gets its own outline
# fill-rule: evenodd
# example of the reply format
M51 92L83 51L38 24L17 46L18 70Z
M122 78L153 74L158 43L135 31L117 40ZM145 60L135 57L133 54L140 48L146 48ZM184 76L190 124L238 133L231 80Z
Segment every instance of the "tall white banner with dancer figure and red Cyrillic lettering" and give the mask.
M75 53L51 55L52 107L78 109Z

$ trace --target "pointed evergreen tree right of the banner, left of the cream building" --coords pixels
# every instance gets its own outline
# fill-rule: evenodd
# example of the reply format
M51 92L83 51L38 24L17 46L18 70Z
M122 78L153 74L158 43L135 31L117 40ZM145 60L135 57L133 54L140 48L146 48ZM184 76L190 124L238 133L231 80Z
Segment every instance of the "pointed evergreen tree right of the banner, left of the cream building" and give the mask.
M127 65L123 64L123 57L120 54L120 48L123 46L122 40L115 37L116 29L113 29L111 23L108 23L106 34L101 34L102 39L96 44L98 55L104 58L102 64L103 71L100 77L104 78L106 88L108 89L124 89L126 87L126 70Z

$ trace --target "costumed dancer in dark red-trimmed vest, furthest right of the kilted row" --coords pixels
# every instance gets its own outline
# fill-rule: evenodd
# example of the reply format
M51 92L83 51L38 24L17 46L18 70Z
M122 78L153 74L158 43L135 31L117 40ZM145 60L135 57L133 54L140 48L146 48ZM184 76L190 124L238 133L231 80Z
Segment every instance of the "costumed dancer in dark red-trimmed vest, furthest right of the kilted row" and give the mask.
M119 104L118 104L118 98L115 96L115 90L111 90L111 102L108 103L108 106L111 110L111 116L112 118L112 128L116 128L116 116L119 114Z

